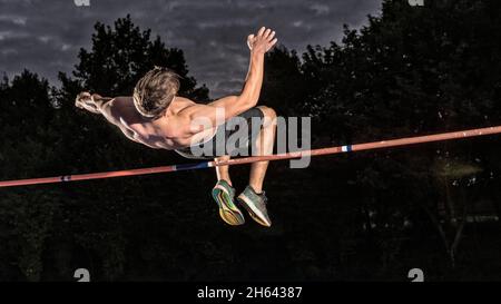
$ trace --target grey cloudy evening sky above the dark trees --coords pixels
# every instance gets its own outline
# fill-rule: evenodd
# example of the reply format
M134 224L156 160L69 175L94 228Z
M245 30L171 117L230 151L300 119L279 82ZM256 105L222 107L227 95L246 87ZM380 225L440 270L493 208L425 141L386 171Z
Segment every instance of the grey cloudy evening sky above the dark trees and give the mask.
M358 28L379 13L381 0L0 0L0 73L23 68L57 85L71 71L80 48L90 46L96 21L111 24L131 14L168 47L185 51L189 70L212 97L242 88L248 65L245 40L261 26L276 29L279 42L303 51L328 45L342 26Z

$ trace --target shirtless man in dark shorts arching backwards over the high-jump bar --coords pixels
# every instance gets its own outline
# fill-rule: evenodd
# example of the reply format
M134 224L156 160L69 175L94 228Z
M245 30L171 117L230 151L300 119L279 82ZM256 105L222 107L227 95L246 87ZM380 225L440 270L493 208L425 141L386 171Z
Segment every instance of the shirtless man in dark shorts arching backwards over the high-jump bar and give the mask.
M137 82L132 97L104 98L97 94L81 92L76 99L76 106L101 114L134 141L150 148L176 150L188 158L196 156L194 148L208 144L216 146L217 133L222 133L225 138L234 135L235 130L227 126L236 119L255 121L258 118L261 126L249 126L247 138L239 143L254 145L254 156L269 155L275 141L276 114L272 108L257 106L257 101L263 85L265 53L276 42L275 31L264 27L256 35L247 37L250 49L249 70L244 88L237 96L227 96L207 105L197 104L176 96L179 90L178 76L169 69L157 67ZM194 124L200 119L210 124ZM218 150L219 154L210 155L216 161L228 160L235 154L235 150L228 150L226 146ZM267 166L268 161L250 165L248 186L237 200L254 220L269 227L272 222L263 192ZM244 224L244 215L235 200L228 166L216 167L216 174L217 184L213 189L213 197L219 207L220 217L229 225Z

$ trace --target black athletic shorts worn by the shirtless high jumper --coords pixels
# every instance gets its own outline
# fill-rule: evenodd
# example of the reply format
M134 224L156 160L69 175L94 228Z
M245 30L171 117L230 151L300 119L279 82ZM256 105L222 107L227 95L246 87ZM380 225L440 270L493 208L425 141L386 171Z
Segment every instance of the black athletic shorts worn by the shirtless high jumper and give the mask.
M216 134L210 140L177 149L176 151L180 156L190 159L213 159L219 156L250 156L252 147L255 145L255 140L263 127L263 121L264 115L259 108L248 109L217 127ZM246 124L247 131L243 134L243 130L237 134L242 124ZM200 150L204 150L202 156L199 156Z

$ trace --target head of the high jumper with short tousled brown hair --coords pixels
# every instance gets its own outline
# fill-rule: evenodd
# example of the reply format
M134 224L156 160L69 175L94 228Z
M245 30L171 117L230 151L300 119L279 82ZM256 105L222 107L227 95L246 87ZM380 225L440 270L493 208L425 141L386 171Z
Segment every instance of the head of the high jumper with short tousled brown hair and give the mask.
M167 68L155 67L134 88L134 105L145 117L157 119L165 114L177 91L179 76Z

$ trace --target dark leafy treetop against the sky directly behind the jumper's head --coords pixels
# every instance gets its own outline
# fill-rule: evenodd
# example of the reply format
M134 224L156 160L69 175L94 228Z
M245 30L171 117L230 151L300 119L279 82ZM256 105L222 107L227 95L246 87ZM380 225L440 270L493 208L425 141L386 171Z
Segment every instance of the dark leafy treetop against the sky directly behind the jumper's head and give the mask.
M73 71L82 88L104 96L131 96L143 75L163 66L181 77L179 95L200 101L208 99L208 89L197 87L195 78L188 76L183 51L167 49L159 37L151 40L150 30L141 31L130 16L118 19L114 28L97 22L95 30L91 50L80 50L80 62ZM63 85L68 81L62 75L61 80Z

